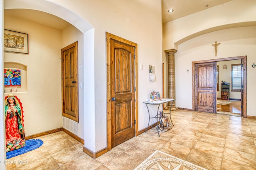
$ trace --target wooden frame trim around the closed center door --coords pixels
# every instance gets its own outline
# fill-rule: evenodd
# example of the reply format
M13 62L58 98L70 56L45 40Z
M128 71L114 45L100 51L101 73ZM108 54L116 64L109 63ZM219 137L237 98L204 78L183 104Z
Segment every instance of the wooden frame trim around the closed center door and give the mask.
M138 50L137 50L137 44L133 43L132 41L126 40L124 38L118 37L116 35L113 35L111 33L106 32L106 70L107 70L107 75L106 75L106 79L107 79L107 147L108 150L111 150L111 89L110 89L110 39L114 39L116 41L120 41L122 43L131 45L133 47L135 47L135 51L134 51L134 55L135 55L135 60L134 60L134 67L135 67L135 120L136 120L136 130L135 130L135 136L138 136L138 64L137 64L137 60L138 60Z

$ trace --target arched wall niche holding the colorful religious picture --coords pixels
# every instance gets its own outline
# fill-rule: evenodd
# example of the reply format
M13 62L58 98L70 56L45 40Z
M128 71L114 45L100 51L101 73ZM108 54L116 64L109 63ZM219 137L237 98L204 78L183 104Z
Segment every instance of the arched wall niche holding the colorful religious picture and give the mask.
M6 70L20 70L21 86L4 86L4 93L28 92L28 77L27 66L21 63L5 62L4 69ZM5 78L6 79L6 78ZM4 80L6 82L6 80Z

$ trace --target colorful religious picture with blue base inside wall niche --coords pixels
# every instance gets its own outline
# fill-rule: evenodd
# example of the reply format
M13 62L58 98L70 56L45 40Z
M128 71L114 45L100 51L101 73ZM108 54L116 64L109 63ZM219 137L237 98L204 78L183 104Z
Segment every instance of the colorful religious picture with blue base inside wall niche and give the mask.
M21 86L20 70L4 69L4 87Z

